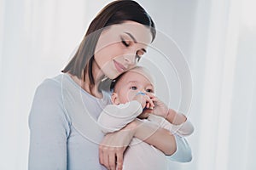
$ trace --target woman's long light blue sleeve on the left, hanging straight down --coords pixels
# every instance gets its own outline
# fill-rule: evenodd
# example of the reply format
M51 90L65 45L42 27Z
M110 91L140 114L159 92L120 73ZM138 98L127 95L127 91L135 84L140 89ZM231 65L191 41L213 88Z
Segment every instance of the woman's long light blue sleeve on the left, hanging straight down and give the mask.
M29 170L67 169L69 123L61 100L61 88L44 81L36 91L29 115Z

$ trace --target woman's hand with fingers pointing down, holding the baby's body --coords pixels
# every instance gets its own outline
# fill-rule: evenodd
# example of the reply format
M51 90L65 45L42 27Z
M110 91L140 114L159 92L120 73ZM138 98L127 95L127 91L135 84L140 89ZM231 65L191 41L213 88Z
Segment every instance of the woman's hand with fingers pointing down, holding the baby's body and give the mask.
M108 133L99 147L100 163L110 170L123 168L124 151L135 133L137 122L133 121L115 133Z

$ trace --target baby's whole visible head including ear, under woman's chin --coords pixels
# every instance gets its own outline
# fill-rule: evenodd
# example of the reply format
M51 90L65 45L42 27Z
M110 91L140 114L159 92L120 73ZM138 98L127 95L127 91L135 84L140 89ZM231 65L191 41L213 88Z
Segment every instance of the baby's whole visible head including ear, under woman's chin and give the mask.
M120 75L113 86L112 102L114 105L131 101L139 92L154 93L154 80L149 71L136 66Z

